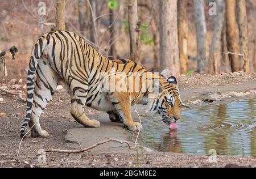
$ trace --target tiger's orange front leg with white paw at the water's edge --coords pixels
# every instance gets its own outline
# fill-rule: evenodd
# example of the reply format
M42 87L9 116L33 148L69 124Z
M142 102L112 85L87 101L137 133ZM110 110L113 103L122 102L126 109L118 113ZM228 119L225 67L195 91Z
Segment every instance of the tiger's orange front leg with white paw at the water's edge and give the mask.
M131 131L139 131L142 129L141 123L134 122L133 117L131 117L131 101L129 93L115 92L109 96L109 99L119 116L123 119L123 125L126 129Z

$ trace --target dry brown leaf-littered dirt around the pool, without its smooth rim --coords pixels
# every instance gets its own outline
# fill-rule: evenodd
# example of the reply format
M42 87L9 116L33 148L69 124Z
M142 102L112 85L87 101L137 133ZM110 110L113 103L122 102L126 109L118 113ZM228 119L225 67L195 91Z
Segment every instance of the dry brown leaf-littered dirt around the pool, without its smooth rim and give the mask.
M16 80L11 80L14 78ZM22 82L19 79L22 79ZM234 91L236 84L246 86L250 83L256 84L255 73L192 74L179 78L180 90L184 96L186 95L184 103L193 98L190 93L186 93L189 90L201 89L205 92L209 87L225 87L226 91ZM7 90L22 90L24 85L26 78L11 76L0 79L0 87ZM256 85L249 86L247 90L256 90ZM25 94L26 90L23 92ZM256 167L255 157L217 156L217 163L210 163L207 155L171 154L144 149L137 149L134 152L117 151L111 154L104 151L88 151L82 154L47 153L46 164L39 163L39 157L36 155L40 149L72 149L68 147L65 135L69 129L77 125L77 122L71 117L69 108L68 95L63 90L57 91L40 118L41 126L48 131L49 137L27 137L23 140L19 156L16 158L20 142L18 133L24 120L26 106L18 96L3 95L0 92L0 167ZM104 114L91 108L85 110L90 118Z

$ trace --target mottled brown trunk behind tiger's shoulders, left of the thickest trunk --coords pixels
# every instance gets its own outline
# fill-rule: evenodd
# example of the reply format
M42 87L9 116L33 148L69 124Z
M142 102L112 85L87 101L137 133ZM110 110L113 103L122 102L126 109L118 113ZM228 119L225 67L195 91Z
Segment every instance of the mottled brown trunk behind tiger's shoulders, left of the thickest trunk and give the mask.
M139 28L140 22L138 20L138 11L137 11L137 0L129 0L128 5L128 19L129 19L129 33L130 33L130 58L131 60L141 63L139 56Z

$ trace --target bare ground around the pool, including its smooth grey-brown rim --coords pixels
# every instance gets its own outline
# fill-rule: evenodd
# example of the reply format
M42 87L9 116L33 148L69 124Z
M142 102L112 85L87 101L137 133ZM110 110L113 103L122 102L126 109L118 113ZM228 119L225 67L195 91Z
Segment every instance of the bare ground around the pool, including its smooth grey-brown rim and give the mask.
M234 78L228 76L234 76ZM199 84L204 78L207 78L208 82ZM218 78L225 80L216 80ZM19 78L16 77L16 79ZM10 78L0 80L0 86L8 87L9 80ZM24 78L22 84L18 84L17 80L15 88L19 88L18 85L22 88L25 82ZM255 74L226 74L226 77L225 75L222 77L219 75L181 76L179 85L183 103L191 108L256 97ZM8 88L11 89L11 86ZM145 148L130 151L125 144L117 143L104 144L81 155L47 154L47 163L40 164L36 156L40 149L80 148L77 141L81 147L88 147L105 139L128 140L132 144L135 140L136 133L123 129L121 123L110 122L106 113L90 108L85 109L86 114L89 118L100 120L101 127L85 129L80 126L71 117L69 97L62 90L56 92L40 118L42 128L48 131L49 138L26 138L17 160L16 154L20 141L18 131L23 122L26 106L16 96L1 94L0 98L3 99L0 102L0 113L6 114L0 117L0 167L24 167L27 163L39 165L38 167L225 167L226 165L229 167L228 164L255 167L256 164L254 157L217 156L217 163L209 163L209 156L206 155L171 154ZM147 117L145 110L146 108L138 105L142 121ZM133 117L134 120L139 120L134 112Z

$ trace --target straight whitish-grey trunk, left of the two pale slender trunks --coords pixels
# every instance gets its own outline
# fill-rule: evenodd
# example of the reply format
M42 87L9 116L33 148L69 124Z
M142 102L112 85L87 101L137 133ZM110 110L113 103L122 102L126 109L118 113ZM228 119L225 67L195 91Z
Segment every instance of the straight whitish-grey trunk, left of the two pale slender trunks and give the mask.
M199 73L206 73L207 69L207 26L205 22L204 0L193 0L197 31L197 66Z

